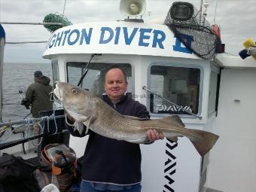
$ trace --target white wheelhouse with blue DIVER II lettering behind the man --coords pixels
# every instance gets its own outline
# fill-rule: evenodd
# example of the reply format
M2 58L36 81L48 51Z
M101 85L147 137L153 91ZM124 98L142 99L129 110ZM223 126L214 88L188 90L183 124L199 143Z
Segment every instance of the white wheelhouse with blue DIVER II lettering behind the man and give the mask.
M212 130L220 66L187 50L167 26L133 22L67 26L51 35L44 58L52 62L53 81L78 84L84 70L89 69L81 87L98 96L104 93L105 70L120 66L127 75L128 92L147 106L151 118L178 114L189 128ZM70 139L78 155L84 154L84 140ZM165 139L141 148L143 191L161 191L163 187L171 191L172 180L177 191L199 191L203 186L208 155L200 157L188 139L180 138L178 144Z

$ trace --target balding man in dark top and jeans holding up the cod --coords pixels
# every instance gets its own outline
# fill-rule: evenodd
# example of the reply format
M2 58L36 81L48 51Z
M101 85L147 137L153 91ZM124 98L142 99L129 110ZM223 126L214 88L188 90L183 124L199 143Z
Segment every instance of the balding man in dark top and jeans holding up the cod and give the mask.
M115 66L108 69L102 100L120 114L149 118L145 105L125 94L126 90L125 72ZM66 114L66 128L71 134L86 136L85 131L81 135L74 131L74 123L75 120ZM87 134L89 139L82 161L80 192L140 192L142 154L139 144L109 139L90 130ZM156 130L148 130L147 134L149 143L163 139L163 134Z

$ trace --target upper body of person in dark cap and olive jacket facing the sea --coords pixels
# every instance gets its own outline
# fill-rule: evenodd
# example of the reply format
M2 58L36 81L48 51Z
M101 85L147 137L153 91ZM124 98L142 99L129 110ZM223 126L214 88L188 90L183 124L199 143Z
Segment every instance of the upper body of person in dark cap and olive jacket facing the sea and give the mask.
M31 107L32 117L40 117L40 111L53 110L53 103L50 102L49 93L53 87L50 85L50 78L44 76L41 71L35 71L35 83L30 84L26 90L26 96L21 105Z

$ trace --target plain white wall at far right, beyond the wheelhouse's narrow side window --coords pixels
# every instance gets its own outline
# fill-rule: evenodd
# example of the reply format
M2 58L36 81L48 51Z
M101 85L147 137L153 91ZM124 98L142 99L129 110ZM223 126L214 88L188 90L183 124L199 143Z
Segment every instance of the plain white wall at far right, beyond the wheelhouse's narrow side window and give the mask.
M255 96L256 69L222 70L218 116L213 121L213 131L220 138L210 154L207 187L255 191Z

